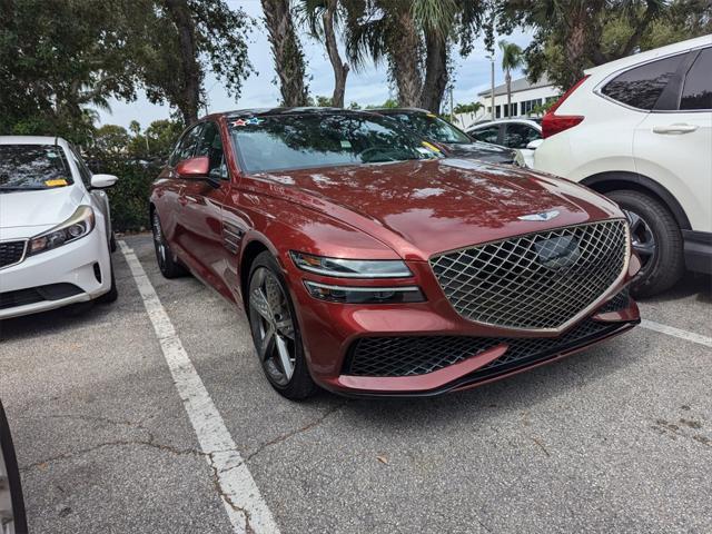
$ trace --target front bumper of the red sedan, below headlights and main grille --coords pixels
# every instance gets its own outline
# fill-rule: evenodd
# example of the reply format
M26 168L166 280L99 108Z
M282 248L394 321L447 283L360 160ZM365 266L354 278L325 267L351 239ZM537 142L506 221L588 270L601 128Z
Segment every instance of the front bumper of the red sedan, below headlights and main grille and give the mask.
M636 304L626 294L621 296L640 268L634 256L625 278L602 296L597 308L558 333L513 330L464 319L426 263L408 263L415 276L403 284L419 286L427 298L408 305L318 301L304 290L304 273L286 267L294 280L290 287L312 376L322 387L345 395L428 396L464 389L567 356L640 322ZM325 280L317 277L316 281ZM389 354L378 353L379 340L397 347ZM370 350L376 365L354 365L362 343L368 345L366 353ZM408 358L415 364L403 367Z

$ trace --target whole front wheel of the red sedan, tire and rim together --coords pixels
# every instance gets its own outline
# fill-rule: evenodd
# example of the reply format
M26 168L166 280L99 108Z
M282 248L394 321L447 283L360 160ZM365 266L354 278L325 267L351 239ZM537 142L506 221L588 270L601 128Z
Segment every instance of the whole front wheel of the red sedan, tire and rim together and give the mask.
M267 251L250 267L247 309L253 342L269 384L291 400L312 396L316 385L307 367L294 304L277 261Z

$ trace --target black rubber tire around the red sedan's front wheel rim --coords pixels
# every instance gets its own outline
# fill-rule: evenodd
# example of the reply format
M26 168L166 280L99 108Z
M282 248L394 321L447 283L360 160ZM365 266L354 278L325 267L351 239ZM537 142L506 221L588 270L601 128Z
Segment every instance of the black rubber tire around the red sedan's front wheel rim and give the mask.
M277 357L274 356L269 358L269 360L260 357L261 350L260 345L263 337L260 337L260 325L258 324L260 320L265 320L260 315L258 316L258 312L255 310L255 307L250 304L253 300L253 295L250 295L250 289L254 286L256 276L264 276L265 273L263 269L266 269L269 275L274 276L274 280L277 281L279 288L281 289L281 295L278 296L283 306L286 305L289 314L290 314L290 328L293 337L288 339L290 354L294 355L294 370L290 377L277 376L278 369L274 368L274 360L277 360ZM304 345L301 342L301 333L299 329L299 324L297 322L297 315L295 314L294 304L291 301L291 297L289 296L289 289L285 281L284 276L280 273L280 268L277 265L276 259L271 256L271 254L265 251L258 255L253 261L249 270L249 279L247 284L247 315L250 323L250 332L253 334L253 342L255 344L255 349L257 350L257 355L260 359L260 364L263 366L263 370L269 384L284 397L289 398L291 400L301 400L317 392L317 386L312 379L312 375L309 374L308 364L306 357L304 355ZM277 317L277 320L284 317ZM279 328L277 327L278 323L275 323L276 333L274 338L279 337ZM265 336L266 338L267 336ZM283 342L284 343L284 342ZM271 367L269 363L273 363ZM284 368L283 368L284 370ZM281 378L281 379L279 379Z

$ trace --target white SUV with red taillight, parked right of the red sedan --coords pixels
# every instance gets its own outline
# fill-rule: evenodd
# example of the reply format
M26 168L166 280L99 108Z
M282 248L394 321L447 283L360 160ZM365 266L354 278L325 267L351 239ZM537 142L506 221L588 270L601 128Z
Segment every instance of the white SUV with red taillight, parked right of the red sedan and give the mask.
M534 168L615 200L643 263L640 296L712 274L712 36L585 71L542 121Z

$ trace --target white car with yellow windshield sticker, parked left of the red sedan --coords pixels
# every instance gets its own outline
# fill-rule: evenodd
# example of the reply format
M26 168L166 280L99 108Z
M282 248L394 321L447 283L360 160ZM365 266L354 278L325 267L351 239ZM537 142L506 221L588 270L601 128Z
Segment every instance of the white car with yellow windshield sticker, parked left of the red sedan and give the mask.
M0 137L0 319L117 297L109 202L55 137Z

